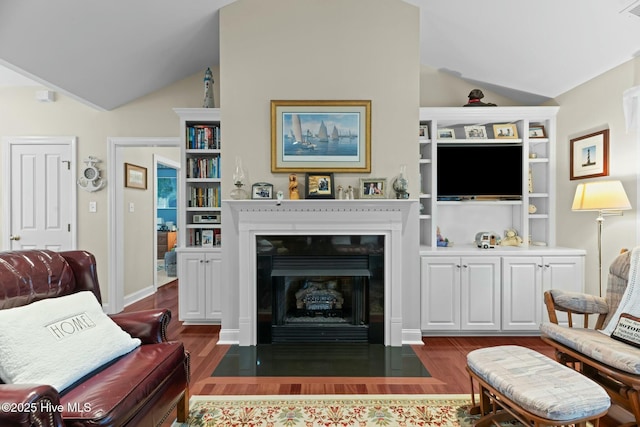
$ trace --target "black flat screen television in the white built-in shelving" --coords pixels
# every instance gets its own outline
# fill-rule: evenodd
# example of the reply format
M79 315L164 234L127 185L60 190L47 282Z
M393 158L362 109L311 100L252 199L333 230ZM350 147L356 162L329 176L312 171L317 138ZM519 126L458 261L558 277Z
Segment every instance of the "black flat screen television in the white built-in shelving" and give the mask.
M522 145L438 144L438 200L522 199Z

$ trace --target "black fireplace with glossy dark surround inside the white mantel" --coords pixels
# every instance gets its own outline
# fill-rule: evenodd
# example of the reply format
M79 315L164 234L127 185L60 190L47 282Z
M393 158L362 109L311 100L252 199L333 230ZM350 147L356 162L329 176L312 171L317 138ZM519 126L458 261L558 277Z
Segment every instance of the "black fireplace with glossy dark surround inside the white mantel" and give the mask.
M258 344L384 342L384 236L257 236Z

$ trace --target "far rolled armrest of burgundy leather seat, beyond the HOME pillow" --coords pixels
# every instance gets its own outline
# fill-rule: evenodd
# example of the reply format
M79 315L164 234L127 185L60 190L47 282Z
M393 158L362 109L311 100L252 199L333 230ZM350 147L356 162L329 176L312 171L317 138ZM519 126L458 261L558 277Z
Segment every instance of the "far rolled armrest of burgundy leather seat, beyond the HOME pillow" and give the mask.
M169 309L152 308L113 314L109 317L129 335L140 338L143 344L167 341L167 326L171 321Z

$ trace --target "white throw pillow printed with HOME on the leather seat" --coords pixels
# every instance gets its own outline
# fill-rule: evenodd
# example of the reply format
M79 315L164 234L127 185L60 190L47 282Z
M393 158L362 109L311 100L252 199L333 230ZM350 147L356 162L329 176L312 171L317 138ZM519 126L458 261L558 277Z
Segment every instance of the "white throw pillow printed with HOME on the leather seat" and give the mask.
M90 291L0 310L0 378L59 392L140 345Z

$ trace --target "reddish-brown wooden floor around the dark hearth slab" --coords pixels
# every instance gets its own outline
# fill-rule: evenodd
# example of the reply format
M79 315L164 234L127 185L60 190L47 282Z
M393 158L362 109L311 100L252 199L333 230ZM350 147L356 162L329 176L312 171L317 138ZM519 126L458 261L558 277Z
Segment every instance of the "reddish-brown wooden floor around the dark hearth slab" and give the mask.
M178 320L177 281L128 306L125 311L167 307L173 320L167 335L180 340L191 353L191 395L258 394L458 394L469 393L465 372L469 351L495 345L516 344L553 356L538 337L424 337L413 349L431 374L429 378L380 377L211 377L229 348L216 345L219 326L184 326ZM175 417L174 417L175 418ZM167 424L170 425L170 424Z

